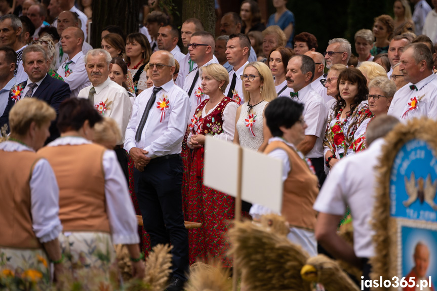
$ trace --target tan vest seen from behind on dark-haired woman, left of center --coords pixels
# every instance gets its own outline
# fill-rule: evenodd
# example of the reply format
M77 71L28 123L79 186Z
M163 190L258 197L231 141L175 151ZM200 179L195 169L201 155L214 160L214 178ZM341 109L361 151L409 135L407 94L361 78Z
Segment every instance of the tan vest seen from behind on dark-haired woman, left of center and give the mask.
M106 214L103 153L97 144L48 146L38 151L50 162L59 186L63 231L110 233Z

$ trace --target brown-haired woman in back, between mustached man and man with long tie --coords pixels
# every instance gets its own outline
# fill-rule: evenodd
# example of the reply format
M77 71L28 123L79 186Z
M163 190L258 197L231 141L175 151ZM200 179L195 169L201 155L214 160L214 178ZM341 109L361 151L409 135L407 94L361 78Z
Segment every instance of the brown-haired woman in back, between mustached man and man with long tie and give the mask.
M135 32L126 38L126 63L132 74L135 94L140 94L147 89L147 79L144 67L149 62L152 50L149 41L142 33Z

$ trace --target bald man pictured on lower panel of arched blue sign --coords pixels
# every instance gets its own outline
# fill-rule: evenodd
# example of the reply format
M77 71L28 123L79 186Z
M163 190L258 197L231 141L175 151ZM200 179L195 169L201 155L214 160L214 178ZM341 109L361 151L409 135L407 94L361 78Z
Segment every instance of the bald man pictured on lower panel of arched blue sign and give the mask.
M411 269L410 273L406 276L405 280L407 282L410 281L410 278L414 280L415 284L413 287L404 287L404 291L415 291L419 290L417 286L420 286L420 280L426 280L428 281L428 277L426 277L426 271L429 267L429 248L426 244L424 244L422 241L419 241L416 246L414 247L414 267ZM420 290L426 290L426 291L434 291L434 285L421 288Z

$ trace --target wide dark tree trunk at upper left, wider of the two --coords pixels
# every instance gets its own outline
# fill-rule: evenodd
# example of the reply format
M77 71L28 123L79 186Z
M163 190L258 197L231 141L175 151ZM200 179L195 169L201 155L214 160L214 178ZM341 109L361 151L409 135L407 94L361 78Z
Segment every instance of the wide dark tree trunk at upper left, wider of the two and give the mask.
M91 45L100 48L101 33L108 25L118 25L126 32L138 32L140 0L93 0L93 23L91 24Z

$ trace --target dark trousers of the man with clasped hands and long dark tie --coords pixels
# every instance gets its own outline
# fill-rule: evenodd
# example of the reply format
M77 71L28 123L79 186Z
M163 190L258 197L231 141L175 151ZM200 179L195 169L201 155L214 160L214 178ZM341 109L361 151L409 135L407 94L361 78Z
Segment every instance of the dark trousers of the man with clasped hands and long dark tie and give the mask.
M188 231L182 211L182 168L180 155L157 157L144 167L144 172L134 169L134 181L151 246L171 242L172 275L187 280Z

